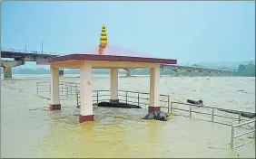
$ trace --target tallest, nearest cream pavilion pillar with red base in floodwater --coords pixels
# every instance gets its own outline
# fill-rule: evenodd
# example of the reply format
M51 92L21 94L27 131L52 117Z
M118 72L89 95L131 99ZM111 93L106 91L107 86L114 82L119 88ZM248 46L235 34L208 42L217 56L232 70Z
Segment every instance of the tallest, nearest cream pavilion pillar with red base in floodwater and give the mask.
M84 64L80 67L80 123L84 123L85 121L94 121L91 80L92 65L87 63L87 61L84 61Z

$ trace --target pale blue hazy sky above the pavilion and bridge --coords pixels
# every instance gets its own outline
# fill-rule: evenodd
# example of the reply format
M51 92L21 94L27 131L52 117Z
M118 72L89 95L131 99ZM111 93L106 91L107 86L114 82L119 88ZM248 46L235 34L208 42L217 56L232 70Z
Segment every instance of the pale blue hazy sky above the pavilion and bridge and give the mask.
M255 57L255 2L1 3L4 48L81 53L105 23L109 44L178 63Z

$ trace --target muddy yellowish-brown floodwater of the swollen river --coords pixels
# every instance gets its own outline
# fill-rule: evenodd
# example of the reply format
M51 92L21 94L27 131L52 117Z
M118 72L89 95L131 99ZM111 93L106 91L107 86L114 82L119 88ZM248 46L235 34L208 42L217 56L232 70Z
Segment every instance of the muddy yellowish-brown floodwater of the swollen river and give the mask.
M79 124L75 99L50 112L36 96L36 81L49 76L33 76L1 80L1 157L255 157L254 143L230 150L230 126L189 117L161 122L142 120L146 109L94 108L95 121ZM61 80L79 82L72 76ZM94 75L92 87L110 89L109 76ZM255 112L255 78L162 76L160 87L172 101ZM120 78L119 89L149 92L149 77Z

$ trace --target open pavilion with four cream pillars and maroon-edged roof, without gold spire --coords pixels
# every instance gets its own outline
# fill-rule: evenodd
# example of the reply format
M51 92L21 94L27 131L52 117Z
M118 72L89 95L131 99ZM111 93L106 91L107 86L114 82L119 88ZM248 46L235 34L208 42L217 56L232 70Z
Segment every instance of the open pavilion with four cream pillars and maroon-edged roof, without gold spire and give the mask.
M81 107L79 122L94 121L92 96L92 69L111 69L110 102L118 100L118 69L150 68L150 104L149 112L159 111L160 64L176 64L176 60L159 59L137 51L125 50L122 47L107 45L103 55L98 48L83 54L70 54L37 61L37 64L49 64L51 68L51 110L60 110L59 68L80 69Z

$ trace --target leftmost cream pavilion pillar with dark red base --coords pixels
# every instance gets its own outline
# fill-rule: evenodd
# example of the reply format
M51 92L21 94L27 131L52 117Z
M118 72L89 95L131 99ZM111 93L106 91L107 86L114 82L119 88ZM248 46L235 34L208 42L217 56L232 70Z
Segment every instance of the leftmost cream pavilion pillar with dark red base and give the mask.
M51 66L51 104L50 110L60 110L60 92L59 92L59 69Z

